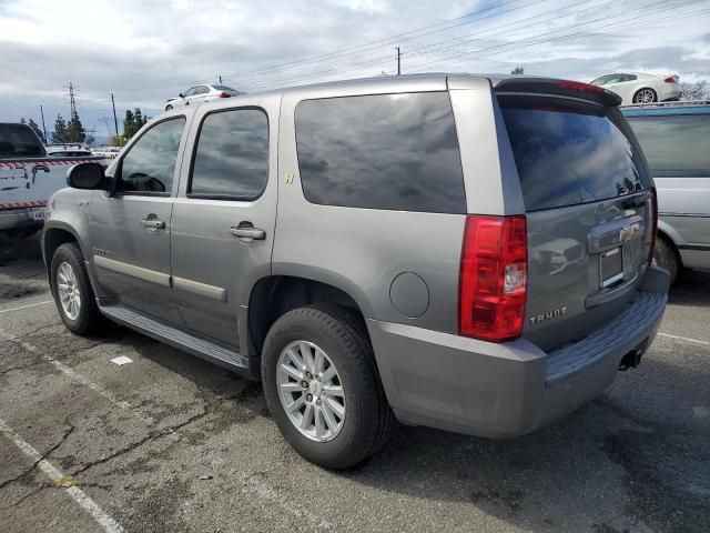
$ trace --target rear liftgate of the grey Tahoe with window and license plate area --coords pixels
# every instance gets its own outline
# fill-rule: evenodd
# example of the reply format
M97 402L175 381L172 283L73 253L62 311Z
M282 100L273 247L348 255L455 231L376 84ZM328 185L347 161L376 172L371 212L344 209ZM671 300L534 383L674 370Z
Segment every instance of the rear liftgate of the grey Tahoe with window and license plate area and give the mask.
M524 335L549 350L633 301L648 265L652 194L627 122L607 97L594 98L604 91L540 86L499 91L498 101L527 212Z

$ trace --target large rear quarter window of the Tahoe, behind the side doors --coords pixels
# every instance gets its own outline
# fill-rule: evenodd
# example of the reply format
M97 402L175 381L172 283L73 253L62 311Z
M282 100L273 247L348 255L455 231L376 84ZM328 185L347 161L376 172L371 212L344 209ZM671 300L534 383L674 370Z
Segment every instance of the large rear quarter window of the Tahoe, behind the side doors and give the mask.
M466 212L446 92L303 101L296 145L303 193L312 203Z

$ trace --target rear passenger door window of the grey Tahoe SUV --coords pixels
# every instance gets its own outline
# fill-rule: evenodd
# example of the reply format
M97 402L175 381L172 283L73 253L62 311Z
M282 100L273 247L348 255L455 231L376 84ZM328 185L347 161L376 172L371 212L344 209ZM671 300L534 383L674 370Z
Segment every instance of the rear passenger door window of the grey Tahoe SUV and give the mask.
M200 128L190 198L255 200L268 179L268 119L257 109L210 113Z

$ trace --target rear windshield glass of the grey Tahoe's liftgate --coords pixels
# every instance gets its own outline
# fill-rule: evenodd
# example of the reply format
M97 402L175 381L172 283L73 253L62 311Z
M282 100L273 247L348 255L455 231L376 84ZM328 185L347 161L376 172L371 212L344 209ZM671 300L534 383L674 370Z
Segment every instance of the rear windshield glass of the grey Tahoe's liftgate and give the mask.
M528 211L648 189L640 151L618 109L499 97Z

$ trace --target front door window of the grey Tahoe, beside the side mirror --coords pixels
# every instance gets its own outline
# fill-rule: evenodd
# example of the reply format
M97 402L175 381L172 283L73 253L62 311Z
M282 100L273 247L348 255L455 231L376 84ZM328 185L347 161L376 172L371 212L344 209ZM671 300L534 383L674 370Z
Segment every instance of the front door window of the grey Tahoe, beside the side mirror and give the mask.
M170 194L184 127L178 117L143 133L121 161L116 192Z

